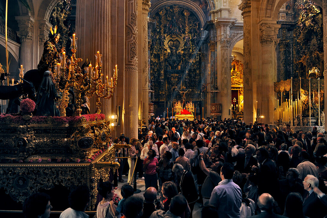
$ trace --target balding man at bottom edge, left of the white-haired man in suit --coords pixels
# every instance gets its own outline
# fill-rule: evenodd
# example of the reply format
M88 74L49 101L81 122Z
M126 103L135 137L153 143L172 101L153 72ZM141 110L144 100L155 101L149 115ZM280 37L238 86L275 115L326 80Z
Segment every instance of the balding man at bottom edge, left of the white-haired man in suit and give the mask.
M274 210L274 198L268 194L263 193L258 197L258 207L261 210L261 213L256 216L251 216L253 218L286 218L286 216L281 216L273 212Z

